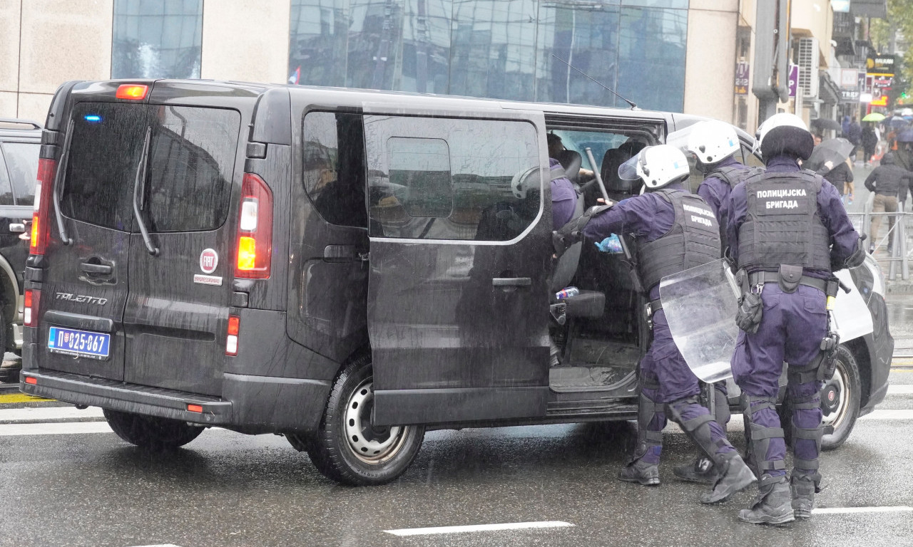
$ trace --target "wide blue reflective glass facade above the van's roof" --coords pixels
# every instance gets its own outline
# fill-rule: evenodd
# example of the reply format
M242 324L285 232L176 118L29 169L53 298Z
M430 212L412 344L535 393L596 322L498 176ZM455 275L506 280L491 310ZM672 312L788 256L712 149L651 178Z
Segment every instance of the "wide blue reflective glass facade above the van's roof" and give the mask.
M291 0L289 82L681 111L688 0Z

